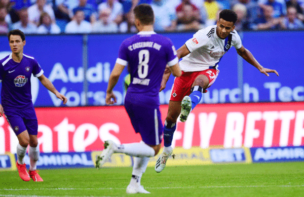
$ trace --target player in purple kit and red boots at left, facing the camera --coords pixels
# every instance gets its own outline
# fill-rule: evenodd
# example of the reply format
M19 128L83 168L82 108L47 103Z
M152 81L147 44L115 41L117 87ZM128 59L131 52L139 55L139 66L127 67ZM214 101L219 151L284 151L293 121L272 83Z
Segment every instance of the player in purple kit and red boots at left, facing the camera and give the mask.
M18 138L17 169L24 181L43 181L36 170L39 160L39 144L37 140L38 123L36 113L31 101L30 77L33 74L41 83L59 99L63 104L67 98L60 94L50 80L43 74L38 62L31 56L23 54L25 36L19 29L8 34L12 54L0 60L1 103L0 117L5 117ZM27 146L30 160L27 172L23 161Z

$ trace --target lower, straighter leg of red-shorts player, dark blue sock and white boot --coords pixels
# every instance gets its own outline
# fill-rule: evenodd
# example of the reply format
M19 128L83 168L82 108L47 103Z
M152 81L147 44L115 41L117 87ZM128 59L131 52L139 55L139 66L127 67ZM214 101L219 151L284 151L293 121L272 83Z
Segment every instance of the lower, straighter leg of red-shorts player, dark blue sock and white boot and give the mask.
M166 162L172 154L173 134L176 130L176 121L180 113L180 101L169 101L168 114L164 124L164 149L155 164L155 171L162 172L166 167Z

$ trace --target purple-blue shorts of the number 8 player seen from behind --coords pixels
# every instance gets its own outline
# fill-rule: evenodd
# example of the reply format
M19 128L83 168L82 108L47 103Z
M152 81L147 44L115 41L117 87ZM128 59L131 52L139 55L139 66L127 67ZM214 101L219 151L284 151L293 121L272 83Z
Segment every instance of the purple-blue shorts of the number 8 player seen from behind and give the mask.
M162 142L163 124L159 107L143 107L125 100L125 108L136 133L148 145L158 145Z

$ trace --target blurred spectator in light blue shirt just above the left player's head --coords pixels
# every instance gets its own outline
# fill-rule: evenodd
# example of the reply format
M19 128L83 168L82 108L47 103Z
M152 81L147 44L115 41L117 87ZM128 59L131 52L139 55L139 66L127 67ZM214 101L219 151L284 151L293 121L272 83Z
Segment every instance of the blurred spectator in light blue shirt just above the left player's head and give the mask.
M13 29L19 29L25 34L36 33L37 27L29 22L27 8L19 10L20 21L13 24Z

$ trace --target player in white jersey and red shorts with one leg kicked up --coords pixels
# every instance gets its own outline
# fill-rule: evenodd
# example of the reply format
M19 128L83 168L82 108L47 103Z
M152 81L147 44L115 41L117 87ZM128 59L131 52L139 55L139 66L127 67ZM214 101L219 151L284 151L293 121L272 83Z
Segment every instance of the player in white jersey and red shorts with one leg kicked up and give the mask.
M164 150L156 162L156 172L161 172L168 157L172 154L171 147L176 121L180 114L180 121L185 122L191 110L200 102L202 93L207 92L215 81L219 70L218 63L222 56L234 46L238 54L248 63L256 67L261 73L269 76L269 72L276 70L264 68L253 55L243 47L241 38L235 28L237 14L231 10L223 10L219 14L216 25L208 26L194 34L177 50L177 57L182 75L175 78L172 87L169 109L164 125ZM163 75L162 91L170 76L169 71Z

